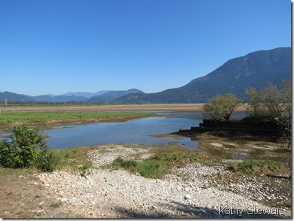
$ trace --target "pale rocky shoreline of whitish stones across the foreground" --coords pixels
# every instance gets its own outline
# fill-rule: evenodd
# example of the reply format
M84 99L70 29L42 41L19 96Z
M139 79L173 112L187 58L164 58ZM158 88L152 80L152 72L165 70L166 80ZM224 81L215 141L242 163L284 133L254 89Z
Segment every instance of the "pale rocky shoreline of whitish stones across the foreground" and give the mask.
M136 145L136 144L134 144ZM94 166L109 164L118 155L131 158L138 152L149 157L149 148L124 144L100 146L89 151ZM78 171L57 171L38 175L45 191L55 195L66 213L76 218L291 218L291 209L280 204L266 206L260 202L274 200L291 203L289 193L266 189L266 179L291 182L276 177L242 177L220 164L188 164L174 168L163 180L134 175L123 170L90 169L89 175ZM223 177L232 177L225 180ZM279 183L280 182L280 183ZM252 191L253 190L253 191ZM54 218L50 215L46 218Z

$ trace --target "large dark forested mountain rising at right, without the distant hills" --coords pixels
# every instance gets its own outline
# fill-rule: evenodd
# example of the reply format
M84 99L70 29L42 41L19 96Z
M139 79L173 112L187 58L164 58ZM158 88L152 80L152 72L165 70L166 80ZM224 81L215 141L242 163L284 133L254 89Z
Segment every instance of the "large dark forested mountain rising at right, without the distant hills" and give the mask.
M226 93L246 99L245 89L250 86L260 89L266 87L268 81L280 86L282 80L291 80L291 60L291 48L260 50L230 59L181 88L160 93L133 93L116 99L114 103L202 103Z

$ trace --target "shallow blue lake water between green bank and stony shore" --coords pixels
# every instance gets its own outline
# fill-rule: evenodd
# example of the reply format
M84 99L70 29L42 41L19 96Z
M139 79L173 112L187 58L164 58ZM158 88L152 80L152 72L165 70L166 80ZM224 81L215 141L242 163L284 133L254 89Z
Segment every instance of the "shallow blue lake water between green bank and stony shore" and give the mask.
M163 112L160 112L163 113ZM197 112L166 112L167 115L131 119L127 122L96 122L71 126L55 126L44 133L50 136L50 148L71 148L75 146L93 146L100 144L136 143L156 146L156 144L178 144L187 148L197 148L199 142L188 137L181 140L174 137L151 137L163 133L172 133L180 128L189 129L199 126L203 118ZM244 113L233 113L233 118L244 117ZM1 134L1 135L9 135Z

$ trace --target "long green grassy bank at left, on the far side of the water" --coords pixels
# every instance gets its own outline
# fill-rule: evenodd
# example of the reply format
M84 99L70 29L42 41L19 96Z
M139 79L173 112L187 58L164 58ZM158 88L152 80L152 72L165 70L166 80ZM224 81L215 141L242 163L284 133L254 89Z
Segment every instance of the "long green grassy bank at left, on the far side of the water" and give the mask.
M156 115L154 113L142 112L14 112L1 113L0 124L13 123L52 123L62 121L87 121L87 120L109 120L129 117L145 117Z

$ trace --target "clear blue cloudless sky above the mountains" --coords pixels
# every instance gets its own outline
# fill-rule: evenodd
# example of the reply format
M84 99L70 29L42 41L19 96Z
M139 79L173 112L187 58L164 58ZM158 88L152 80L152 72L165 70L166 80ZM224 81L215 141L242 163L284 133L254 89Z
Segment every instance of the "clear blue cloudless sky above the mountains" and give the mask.
M154 93L291 46L290 0L1 0L0 91Z

